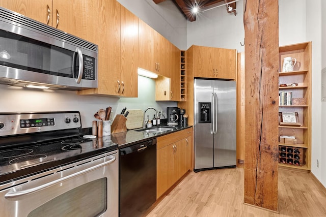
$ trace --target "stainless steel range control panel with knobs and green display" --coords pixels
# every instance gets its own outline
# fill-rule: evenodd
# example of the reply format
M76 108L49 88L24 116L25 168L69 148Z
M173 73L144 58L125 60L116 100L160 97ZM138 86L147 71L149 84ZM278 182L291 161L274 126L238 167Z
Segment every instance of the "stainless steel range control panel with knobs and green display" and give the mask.
M81 127L79 112L0 113L0 136Z

